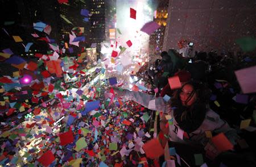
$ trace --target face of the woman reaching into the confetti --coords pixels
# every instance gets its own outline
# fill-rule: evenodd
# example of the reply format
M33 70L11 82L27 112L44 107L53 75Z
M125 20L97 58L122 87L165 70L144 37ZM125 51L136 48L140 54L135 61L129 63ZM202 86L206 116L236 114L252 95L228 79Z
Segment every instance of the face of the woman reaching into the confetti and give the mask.
M180 92L180 100L183 106L191 106L196 102L197 94L192 85L185 85Z

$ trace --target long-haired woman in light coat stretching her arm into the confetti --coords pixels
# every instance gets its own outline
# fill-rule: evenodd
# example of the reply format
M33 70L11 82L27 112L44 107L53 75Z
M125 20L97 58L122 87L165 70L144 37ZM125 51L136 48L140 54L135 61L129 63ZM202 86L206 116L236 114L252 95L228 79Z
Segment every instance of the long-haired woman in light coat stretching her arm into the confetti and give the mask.
M168 131L170 141L189 145L211 145L208 147L209 155L217 156L218 152L210 140L205 136L205 131L213 133L225 133L232 144L236 144L238 136L236 130L230 128L228 123L220 119L220 116L208 107L209 91L203 83L187 82L176 90L170 101L165 102L162 97L155 98L141 92L119 90L114 88L118 96L126 96L144 107L152 110L163 111L160 118L162 125L166 125L165 115L171 115L172 124L166 128L161 126L162 131ZM153 101L154 105L150 105ZM164 129L166 128L166 129ZM187 137L179 136L186 133ZM182 135L181 135L182 136Z

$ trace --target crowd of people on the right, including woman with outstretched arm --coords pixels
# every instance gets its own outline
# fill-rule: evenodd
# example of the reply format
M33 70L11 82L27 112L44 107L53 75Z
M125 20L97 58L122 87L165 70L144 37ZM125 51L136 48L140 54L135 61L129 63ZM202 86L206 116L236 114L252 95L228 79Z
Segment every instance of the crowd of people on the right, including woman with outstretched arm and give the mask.
M142 93L115 89L115 93L162 111L159 136L168 136L159 137L162 147L166 143L176 146L189 165L195 165L193 153L203 152L209 166L255 166L255 128L252 131L240 129L244 119L254 120L251 126L255 126L255 93L246 94L249 97L246 103L234 99L242 94L234 71L255 65L255 58L241 53L217 55L216 52L182 57L174 49L160 56L162 59L147 64L137 76L161 91ZM176 87L169 80L175 76L180 82ZM212 136L221 135L232 147L221 149L213 142ZM163 157L160 160L163 162Z

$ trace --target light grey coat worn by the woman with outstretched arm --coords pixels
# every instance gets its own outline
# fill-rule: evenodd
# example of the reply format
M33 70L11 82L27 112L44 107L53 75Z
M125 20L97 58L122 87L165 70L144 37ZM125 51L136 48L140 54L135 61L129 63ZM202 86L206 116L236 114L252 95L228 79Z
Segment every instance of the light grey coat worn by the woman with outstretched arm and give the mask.
M163 97L156 98L154 95L129 90L123 90L121 95L124 95L128 99L131 99L151 110L163 111L164 114L171 115L172 124L169 124L169 137L171 141L187 144L203 144L208 140L208 138L205 136L205 131L211 131L216 133L225 133L232 144L236 144L236 130L230 128L228 123L220 119L220 116L210 108L208 108L205 114L205 119L203 120L203 123L201 123L201 126L195 131L188 133L189 139L183 139L184 132L181 130L174 118L174 110L169 107L170 105L164 101Z

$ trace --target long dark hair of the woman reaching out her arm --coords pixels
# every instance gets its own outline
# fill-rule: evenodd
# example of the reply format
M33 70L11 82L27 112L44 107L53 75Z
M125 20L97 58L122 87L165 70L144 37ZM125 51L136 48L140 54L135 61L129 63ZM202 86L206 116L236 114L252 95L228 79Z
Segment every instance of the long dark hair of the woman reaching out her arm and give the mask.
M191 85L197 95L196 102L191 106L183 106L180 100L180 93L185 85ZM210 90L201 82L187 82L175 91L169 105L174 110L174 118L182 130L191 133L201 126L207 111L209 97Z

